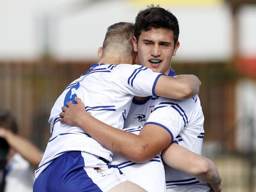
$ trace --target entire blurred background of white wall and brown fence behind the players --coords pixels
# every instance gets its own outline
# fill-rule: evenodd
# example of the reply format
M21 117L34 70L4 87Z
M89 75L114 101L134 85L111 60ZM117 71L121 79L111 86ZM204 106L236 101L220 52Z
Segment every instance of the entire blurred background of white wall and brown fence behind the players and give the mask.
M151 3L180 24L172 68L202 81L203 155L224 192L256 192L256 0L0 0L0 108L44 151L54 102L98 61L108 26Z

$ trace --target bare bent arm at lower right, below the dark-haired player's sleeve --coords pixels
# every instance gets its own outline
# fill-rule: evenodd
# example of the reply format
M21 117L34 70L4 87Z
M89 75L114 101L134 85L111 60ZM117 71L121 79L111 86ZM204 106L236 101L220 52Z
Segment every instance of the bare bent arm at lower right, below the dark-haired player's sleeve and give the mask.
M215 192L221 192L221 176L210 159L175 143L165 148L162 157L172 168L194 175L199 181L208 183Z

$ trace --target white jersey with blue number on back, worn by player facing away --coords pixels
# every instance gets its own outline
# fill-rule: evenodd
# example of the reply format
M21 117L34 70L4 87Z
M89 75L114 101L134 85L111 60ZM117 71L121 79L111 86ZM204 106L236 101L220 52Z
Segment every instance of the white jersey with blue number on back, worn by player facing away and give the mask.
M94 64L90 70L68 85L55 102L49 123L52 137L48 141L35 178L57 157L68 151L86 151L108 161L113 154L80 127L60 123L61 107L77 96L85 103L86 111L106 124L123 128L132 98L154 95L156 81L163 75L140 65Z

